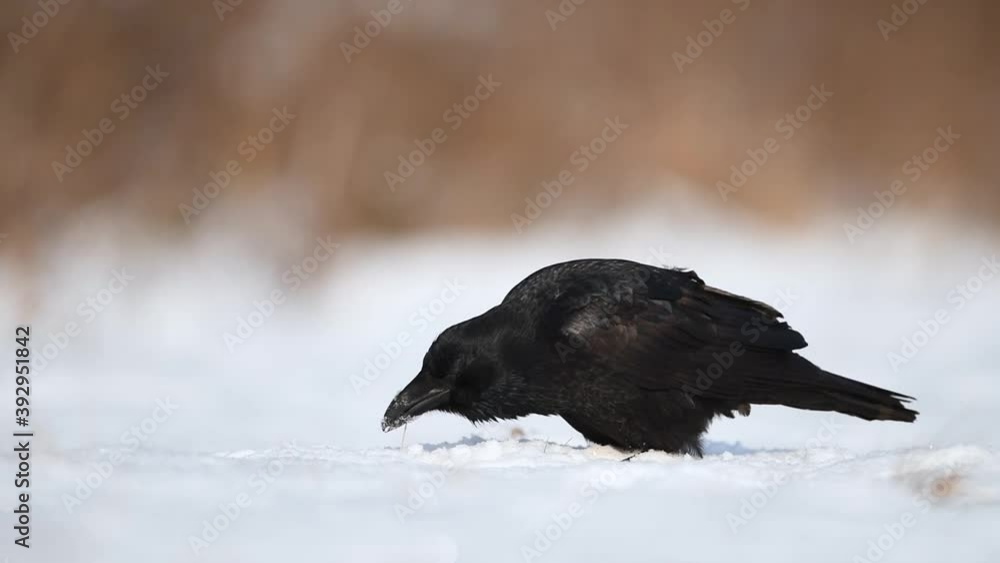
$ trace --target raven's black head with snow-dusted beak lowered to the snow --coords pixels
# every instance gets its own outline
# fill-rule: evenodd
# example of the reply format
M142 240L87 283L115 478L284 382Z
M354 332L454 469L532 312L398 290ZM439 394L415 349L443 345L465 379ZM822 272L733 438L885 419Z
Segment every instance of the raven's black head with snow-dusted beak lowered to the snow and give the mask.
M458 414L472 422L538 412L531 408L525 374L505 361L516 353L514 347L495 332L480 328L463 323L434 341L420 373L386 409L382 430L395 430L430 411Z

